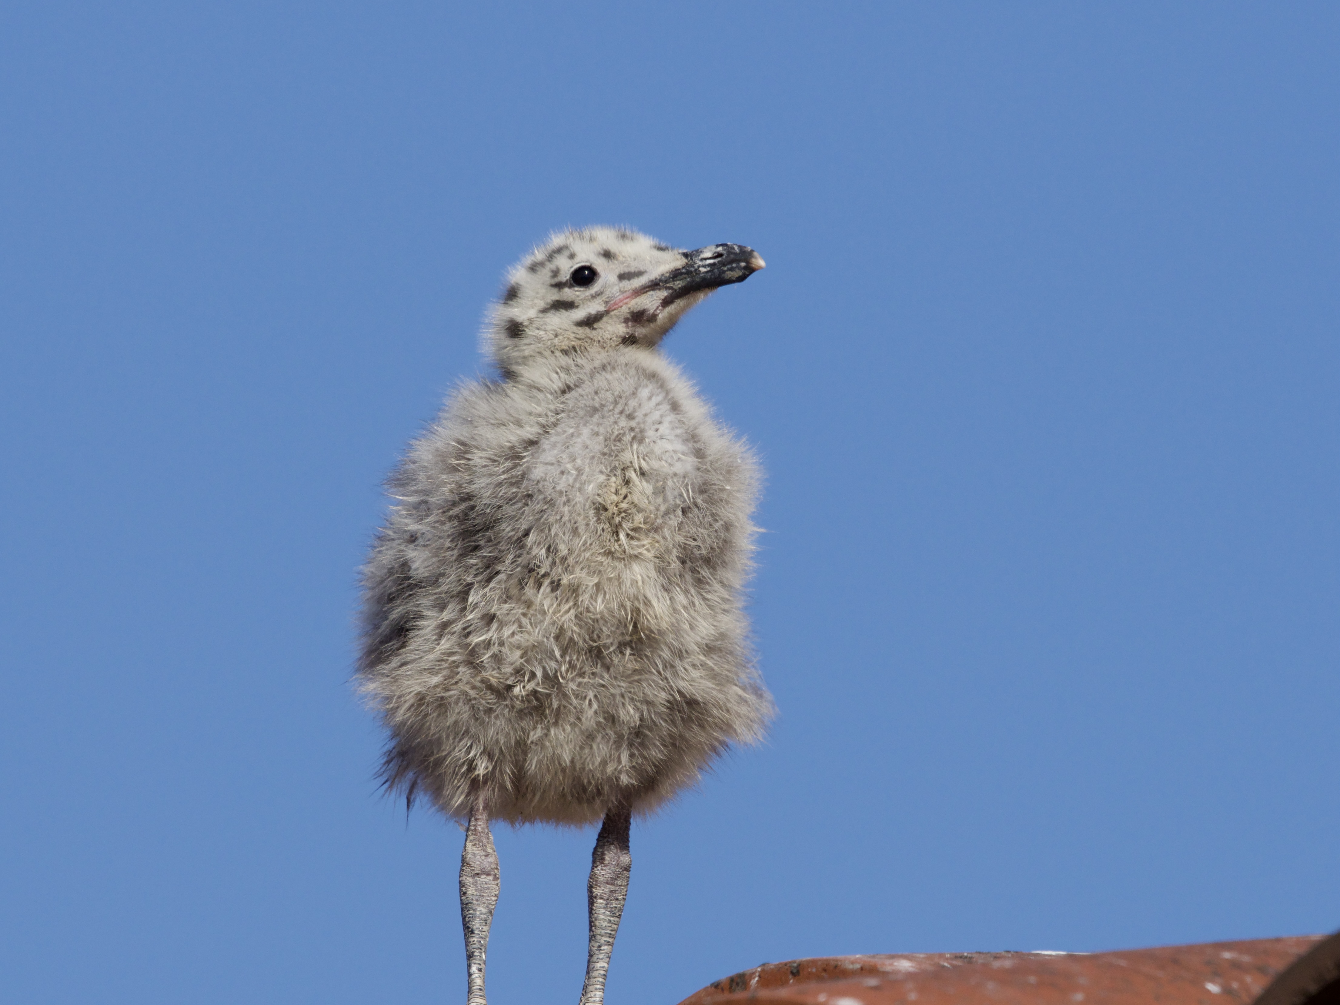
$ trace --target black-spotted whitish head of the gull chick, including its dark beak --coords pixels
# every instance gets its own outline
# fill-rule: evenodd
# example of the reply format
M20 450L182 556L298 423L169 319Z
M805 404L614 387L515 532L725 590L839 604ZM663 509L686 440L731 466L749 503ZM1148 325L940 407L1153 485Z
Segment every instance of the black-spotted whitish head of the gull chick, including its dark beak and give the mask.
M519 374L555 354L653 348L713 289L762 267L740 244L681 251L623 228L563 230L508 272L486 351Z

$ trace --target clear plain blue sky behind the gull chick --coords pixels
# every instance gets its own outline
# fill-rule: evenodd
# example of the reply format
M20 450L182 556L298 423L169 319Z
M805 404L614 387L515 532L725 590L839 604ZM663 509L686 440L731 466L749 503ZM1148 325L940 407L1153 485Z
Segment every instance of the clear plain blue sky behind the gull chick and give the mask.
M588 222L768 260L666 351L768 468L781 710L635 827L611 1002L1340 927L1337 42L1323 3L7 7L9 994L464 997L355 570L503 271ZM576 998L592 839L498 829L494 1005Z

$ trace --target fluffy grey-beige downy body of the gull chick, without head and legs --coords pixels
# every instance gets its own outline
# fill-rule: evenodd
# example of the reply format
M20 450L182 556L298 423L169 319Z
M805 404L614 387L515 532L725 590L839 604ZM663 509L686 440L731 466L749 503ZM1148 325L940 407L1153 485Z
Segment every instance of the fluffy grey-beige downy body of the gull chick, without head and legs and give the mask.
M466 819L645 813L772 702L742 612L758 473L657 350L462 385L390 481L359 678L385 781Z

